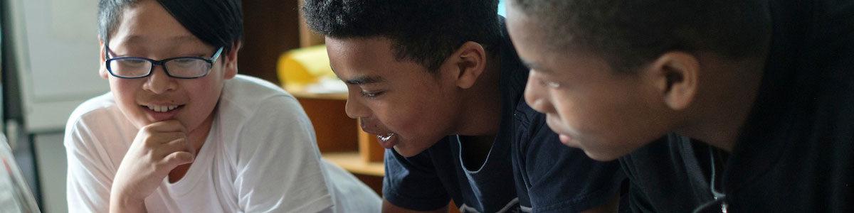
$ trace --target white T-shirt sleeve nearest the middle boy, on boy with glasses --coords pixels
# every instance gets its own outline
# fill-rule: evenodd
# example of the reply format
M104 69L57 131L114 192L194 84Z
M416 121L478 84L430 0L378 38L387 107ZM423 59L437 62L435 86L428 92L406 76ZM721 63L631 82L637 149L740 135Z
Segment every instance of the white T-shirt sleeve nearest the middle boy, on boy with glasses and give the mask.
M294 98L263 101L239 135L234 187L241 211L330 210L314 130Z

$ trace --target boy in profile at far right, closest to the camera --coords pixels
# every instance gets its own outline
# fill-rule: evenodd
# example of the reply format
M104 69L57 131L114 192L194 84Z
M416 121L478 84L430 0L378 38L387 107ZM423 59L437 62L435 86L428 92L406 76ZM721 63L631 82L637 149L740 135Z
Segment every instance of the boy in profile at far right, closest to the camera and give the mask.
M525 99L630 210L854 212L854 1L510 2Z

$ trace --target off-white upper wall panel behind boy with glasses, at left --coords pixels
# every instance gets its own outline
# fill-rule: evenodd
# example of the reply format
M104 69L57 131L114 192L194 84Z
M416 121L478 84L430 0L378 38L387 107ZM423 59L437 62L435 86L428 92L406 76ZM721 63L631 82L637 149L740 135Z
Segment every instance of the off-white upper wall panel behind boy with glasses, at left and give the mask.
M25 128L61 131L74 107L108 90L97 75L97 1L8 0Z

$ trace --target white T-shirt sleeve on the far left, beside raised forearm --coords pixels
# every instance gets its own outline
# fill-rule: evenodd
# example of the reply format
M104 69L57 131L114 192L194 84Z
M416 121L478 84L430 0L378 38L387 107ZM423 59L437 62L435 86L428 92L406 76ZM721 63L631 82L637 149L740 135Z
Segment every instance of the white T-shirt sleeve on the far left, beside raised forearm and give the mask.
M67 154L68 212L108 212L116 166L102 141L82 121L67 125L63 144Z

